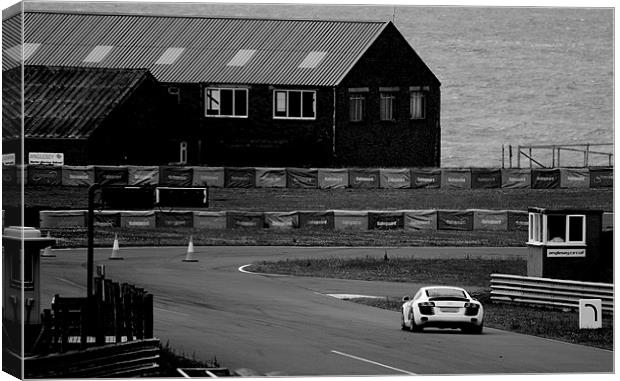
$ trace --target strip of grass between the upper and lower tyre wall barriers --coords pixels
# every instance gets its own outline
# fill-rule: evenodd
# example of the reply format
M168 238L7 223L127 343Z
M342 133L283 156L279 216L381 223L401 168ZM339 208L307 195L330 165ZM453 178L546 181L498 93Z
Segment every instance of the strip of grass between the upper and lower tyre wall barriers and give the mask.
M86 187L32 187L27 207L86 209ZM19 189L3 187L3 203L20 202ZM592 208L613 210L613 189L293 189L209 188L208 210L397 210Z

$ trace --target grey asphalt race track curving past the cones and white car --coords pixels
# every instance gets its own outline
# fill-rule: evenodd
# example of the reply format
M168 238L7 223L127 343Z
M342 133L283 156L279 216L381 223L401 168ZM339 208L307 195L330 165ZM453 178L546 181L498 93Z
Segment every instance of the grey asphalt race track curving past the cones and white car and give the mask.
M42 258L42 308L54 294L84 296L86 250ZM154 294L155 334L178 352L261 375L429 375L612 372L613 352L485 328L401 331L397 312L326 294L413 295L420 284L248 274L261 260L383 256L383 248L185 247L95 251L115 281ZM524 256L525 248L401 248L390 256Z

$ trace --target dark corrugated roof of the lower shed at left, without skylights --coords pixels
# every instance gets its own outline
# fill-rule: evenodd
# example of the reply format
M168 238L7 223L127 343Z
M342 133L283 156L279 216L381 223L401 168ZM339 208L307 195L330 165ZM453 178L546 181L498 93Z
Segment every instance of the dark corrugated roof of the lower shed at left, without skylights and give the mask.
M87 138L148 77L146 69L25 66L24 135ZM2 80L2 137L17 138L21 70L3 73Z

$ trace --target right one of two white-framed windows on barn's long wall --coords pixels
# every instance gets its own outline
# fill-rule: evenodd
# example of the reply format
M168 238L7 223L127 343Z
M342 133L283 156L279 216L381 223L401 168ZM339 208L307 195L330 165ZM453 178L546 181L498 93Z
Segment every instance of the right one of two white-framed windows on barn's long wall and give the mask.
M316 119L316 91L274 90L274 119Z

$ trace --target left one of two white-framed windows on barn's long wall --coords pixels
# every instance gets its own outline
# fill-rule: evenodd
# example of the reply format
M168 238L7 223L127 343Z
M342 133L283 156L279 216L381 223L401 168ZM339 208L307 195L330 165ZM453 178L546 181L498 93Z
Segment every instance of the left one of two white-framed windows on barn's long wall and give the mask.
M207 117L247 118L248 89L207 87L205 89Z

